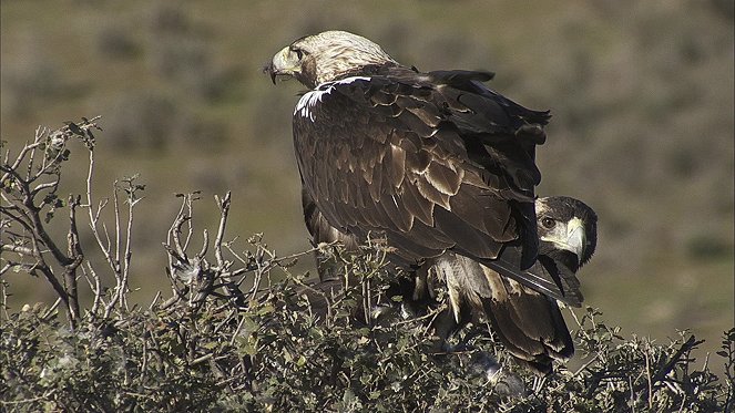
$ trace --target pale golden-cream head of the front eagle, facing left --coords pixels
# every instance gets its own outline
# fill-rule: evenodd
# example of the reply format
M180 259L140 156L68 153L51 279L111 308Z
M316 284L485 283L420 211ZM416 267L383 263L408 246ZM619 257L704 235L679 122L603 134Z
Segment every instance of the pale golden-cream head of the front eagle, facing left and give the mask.
M330 30L300 38L283 48L264 72L296 78L308 89L358 74L366 65L396 63L378 44L346 31Z

